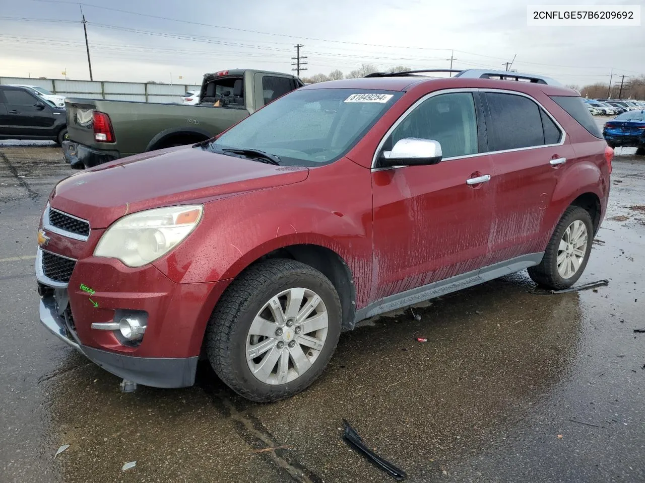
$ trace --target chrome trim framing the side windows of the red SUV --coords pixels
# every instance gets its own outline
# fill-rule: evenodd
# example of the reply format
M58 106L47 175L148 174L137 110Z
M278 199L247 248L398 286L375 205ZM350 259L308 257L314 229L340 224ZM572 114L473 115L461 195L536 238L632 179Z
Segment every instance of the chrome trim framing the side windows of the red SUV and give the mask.
M382 169L393 169L393 168L399 168L399 167L406 167L406 166L387 166L387 167L375 167L376 166L376 160L377 160L377 155L381 152L381 149L383 147L383 144L385 144L385 141L387 140L390 135L392 135L392 132L394 129L396 129L401 122L405 120L410 113L419 106L422 102L424 102L427 99L430 99L430 97L434 97L435 95L441 95L441 94L448 94L448 93L454 93L454 92L470 92L470 93L475 93L475 92L493 92L493 93L500 93L500 94L511 94L511 95L520 95L522 97L526 97L527 99L532 100L537 104L538 108L542 109L546 115L553 121L555 126L557 126L558 129L560 129L560 141L555 143L555 144L540 144L539 146L527 146L527 147L515 147L513 149L502 149L501 151L486 151L485 153L474 153L472 155L463 155L463 156L452 156L450 158L442 158L441 162L444 161L452 161L456 159L465 159L465 158L474 158L475 156L488 156L488 155L497 155L501 153L513 153L515 151L526 151L527 149L538 149L540 147L555 147L555 146L562 146L564 142L566 141L567 133L562 128L562 125L557 121L553 115L548 111L548 109L544 108L542 104L540 104L539 100L535 99L534 97L524 93L524 92L519 92L519 91L512 91L508 89L493 89L493 88L457 88L457 89L444 89L440 91L434 91L431 93L428 93L424 95L421 99L417 100L412 106L410 106L404 113L402 113L401 116L395 121L394 124L388 129L388 131L385 133L385 135L381 138L381 142L379 142L379 145L376 148L376 151L374 152L374 155L372 156L372 166L370 169L372 171L381 171Z

